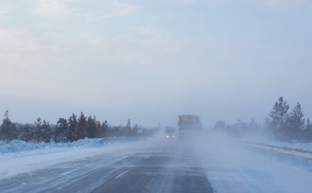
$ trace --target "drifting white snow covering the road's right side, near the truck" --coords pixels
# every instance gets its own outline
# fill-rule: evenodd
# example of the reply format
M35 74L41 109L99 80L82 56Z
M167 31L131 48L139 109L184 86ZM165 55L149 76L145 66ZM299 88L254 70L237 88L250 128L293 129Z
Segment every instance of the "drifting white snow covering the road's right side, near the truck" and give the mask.
M312 172L264 153L209 135L196 142L211 186L222 192L311 192Z

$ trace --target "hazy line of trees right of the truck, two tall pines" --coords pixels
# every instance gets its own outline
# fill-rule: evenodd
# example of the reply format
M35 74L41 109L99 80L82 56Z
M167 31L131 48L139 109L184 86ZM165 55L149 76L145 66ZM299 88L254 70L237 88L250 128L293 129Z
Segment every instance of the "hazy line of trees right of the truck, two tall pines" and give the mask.
M237 121L236 124L227 125L224 121L217 121L214 130L226 131L235 137L243 135L263 135L284 142L312 142L312 125L310 119L304 119L300 103L289 112L289 105L283 97L275 102L265 123L257 124Z

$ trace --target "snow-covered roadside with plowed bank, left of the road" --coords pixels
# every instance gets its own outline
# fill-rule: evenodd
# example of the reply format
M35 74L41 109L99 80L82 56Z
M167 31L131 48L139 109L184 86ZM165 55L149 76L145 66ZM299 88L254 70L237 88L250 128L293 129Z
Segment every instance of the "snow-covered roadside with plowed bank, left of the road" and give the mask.
M97 156L104 152L113 153L123 149L135 149L146 143L139 138L137 141L122 143L123 140L120 140L120 142L109 144L103 143L103 139L85 139L59 144L33 144L21 141L0 144L0 151L2 151L0 154L0 178L9 178L16 174L28 173L61 162Z

